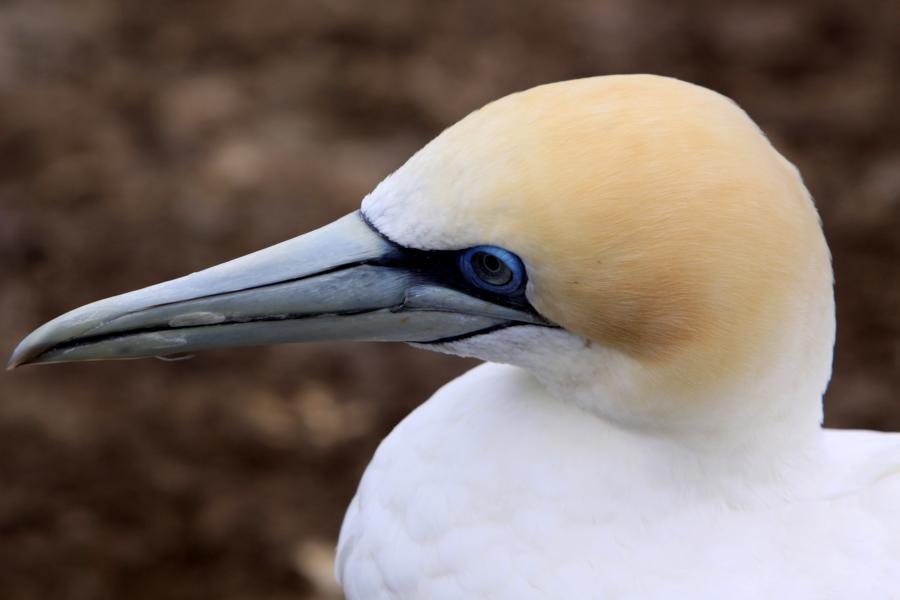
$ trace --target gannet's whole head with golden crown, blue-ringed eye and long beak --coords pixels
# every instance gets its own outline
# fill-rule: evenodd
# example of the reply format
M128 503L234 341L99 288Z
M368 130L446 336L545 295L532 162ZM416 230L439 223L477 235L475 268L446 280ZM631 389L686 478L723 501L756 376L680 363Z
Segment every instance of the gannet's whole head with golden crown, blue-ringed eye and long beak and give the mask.
M658 424L798 370L820 396L831 286L797 170L736 104L596 77L497 100L359 212L76 309L10 364L399 340L525 366L592 410Z

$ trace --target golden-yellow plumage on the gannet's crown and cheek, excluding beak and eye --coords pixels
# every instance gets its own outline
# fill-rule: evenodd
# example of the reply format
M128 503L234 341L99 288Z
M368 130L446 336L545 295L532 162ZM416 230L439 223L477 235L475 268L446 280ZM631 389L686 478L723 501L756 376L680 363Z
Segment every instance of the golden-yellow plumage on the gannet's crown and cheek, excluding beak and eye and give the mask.
M502 246L525 262L546 317L682 370L745 361L808 296L830 295L796 169L736 104L664 77L493 102L413 156L363 211L404 245Z

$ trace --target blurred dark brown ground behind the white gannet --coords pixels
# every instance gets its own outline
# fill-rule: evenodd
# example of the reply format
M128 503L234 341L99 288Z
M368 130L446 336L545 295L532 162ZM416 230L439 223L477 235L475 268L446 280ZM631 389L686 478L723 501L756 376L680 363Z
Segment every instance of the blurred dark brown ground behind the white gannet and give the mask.
M655 72L800 167L837 271L827 422L900 430L898 23L878 0L6 0L0 350L353 210L491 99ZM472 364L319 344L0 375L0 597L331 597L376 444Z

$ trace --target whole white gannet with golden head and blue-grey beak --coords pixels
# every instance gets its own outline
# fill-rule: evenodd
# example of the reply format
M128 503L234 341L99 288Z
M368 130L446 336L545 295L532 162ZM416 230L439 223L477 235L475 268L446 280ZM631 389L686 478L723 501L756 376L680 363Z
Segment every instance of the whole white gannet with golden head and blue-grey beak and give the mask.
M9 366L326 339L483 361L378 447L351 600L900 598L900 435L823 428L820 218L717 92L503 97L359 210L77 308Z

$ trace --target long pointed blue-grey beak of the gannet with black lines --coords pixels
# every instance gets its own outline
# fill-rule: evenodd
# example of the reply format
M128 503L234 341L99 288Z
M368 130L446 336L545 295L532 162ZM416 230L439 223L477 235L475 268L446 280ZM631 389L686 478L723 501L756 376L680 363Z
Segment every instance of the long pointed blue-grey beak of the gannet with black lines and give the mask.
M442 254L398 246L354 212L205 271L68 312L26 337L8 368L315 340L442 342L549 325L527 306L467 293Z

